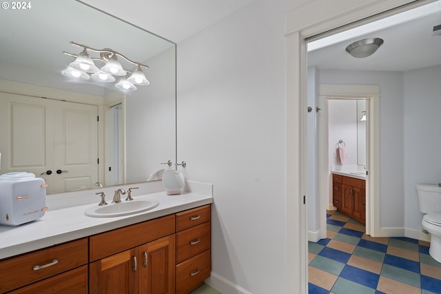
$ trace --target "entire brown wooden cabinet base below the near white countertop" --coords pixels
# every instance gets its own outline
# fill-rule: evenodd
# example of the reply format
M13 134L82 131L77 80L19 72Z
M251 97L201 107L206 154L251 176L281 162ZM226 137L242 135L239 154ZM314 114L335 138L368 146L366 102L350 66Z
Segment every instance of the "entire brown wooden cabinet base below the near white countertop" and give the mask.
M210 220L208 204L0 260L0 293L188 294L211 272Z

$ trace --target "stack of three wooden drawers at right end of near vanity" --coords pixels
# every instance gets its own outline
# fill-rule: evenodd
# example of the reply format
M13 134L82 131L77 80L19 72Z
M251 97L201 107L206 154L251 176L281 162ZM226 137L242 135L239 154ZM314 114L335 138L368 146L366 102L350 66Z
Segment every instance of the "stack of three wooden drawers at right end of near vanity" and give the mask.
M176 213L176 294L187 294L209 277L211 206Z

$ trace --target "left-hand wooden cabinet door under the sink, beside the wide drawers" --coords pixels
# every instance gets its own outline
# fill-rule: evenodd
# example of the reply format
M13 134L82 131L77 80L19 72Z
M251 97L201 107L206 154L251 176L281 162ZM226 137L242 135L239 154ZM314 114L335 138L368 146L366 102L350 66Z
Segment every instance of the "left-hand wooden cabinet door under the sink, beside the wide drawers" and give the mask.
M139 250L130 249L90 264L90 294L139 293Z

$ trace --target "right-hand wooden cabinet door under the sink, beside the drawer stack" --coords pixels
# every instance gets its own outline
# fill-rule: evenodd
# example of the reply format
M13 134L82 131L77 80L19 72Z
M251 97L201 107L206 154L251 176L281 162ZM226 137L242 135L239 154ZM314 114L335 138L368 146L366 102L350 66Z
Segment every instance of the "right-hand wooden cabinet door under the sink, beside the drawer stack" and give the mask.
M139 247L140 292L143 294L174 294L175 235Z

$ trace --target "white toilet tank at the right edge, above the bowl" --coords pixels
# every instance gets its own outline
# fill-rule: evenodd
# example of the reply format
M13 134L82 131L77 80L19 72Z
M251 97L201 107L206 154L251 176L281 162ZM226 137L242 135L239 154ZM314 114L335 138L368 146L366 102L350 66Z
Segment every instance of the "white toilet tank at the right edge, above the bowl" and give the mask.
M439 185L416 185L416 191L422 213L441 213L441 187Z

